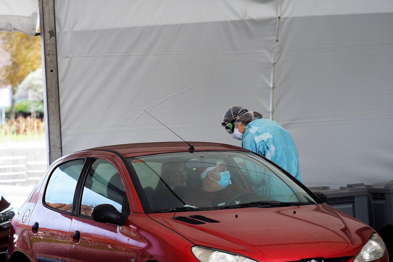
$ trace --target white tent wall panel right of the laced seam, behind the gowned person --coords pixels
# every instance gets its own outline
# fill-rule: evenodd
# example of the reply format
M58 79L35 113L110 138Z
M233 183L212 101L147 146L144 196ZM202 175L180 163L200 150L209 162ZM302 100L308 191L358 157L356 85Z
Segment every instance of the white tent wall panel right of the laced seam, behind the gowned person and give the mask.
M393 179L393 2L283 1L275 120L310 186Z

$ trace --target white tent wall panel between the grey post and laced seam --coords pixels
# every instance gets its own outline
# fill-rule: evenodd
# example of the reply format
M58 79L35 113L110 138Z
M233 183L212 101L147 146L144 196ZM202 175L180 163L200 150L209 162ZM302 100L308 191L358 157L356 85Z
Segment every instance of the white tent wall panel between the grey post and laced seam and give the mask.
M62 0L55 13L63 154L178 140L142 109L185 140L227 143L228 107L270 110L274 0Z

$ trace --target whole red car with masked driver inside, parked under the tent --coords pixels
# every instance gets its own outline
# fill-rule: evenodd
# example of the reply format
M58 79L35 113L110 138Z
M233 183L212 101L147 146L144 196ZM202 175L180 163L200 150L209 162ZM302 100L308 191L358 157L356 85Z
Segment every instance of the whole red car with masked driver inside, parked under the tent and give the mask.
M106 146L58 159L11 221L8 261L388 261L371 227L225 144Z

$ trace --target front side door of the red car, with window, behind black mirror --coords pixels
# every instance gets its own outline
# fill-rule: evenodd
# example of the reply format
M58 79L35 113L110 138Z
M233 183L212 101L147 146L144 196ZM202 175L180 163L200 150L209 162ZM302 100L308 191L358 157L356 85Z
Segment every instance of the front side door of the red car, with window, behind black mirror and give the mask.
M70 227L73 261L127 261L127 225L99 223L91 218L93 208L113 205L128 219L130 205L123 172L110 157L96 156L80 184L79 206Z

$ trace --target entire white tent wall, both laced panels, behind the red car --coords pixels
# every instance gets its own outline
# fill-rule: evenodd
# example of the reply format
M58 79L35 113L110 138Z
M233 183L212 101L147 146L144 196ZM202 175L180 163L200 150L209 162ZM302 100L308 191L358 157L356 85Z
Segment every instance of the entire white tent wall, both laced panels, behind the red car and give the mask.
M391 179L393 8L362 2L55 0L63 154L178 140L142 109L240 145L220 122L244 105L292 134L307 185Z

